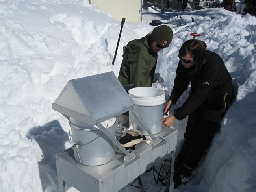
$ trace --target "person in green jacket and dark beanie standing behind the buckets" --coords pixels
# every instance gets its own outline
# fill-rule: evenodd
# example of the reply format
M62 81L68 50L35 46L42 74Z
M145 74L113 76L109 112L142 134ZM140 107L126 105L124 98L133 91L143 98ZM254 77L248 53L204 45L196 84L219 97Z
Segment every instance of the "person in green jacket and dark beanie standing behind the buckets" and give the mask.
M157 52L169 46L173 31L167 25L154 28L152 33L141 39L128 42L124 49L118 79L124 85L152 87L157 63Z

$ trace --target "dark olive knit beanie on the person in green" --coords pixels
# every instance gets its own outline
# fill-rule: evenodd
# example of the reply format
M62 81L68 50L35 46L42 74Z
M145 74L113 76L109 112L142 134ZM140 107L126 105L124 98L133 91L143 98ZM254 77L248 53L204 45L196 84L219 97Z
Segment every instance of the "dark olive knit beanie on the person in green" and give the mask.
M168 47L173 39L173 30L167 25L157 26L150 34L150 39L163 47Z

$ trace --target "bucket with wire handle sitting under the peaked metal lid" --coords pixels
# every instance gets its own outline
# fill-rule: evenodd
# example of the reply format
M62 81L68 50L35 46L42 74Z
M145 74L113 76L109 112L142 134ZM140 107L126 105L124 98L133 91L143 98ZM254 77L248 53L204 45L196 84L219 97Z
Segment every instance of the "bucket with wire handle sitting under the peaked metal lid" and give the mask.
M98 166L106 164L115 156L115 145L97 126L91 126L72 117L69 118L76 161L84 165ZM101 123L115 136L116 118ZM102 135L103 134L103 135Z

